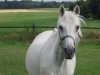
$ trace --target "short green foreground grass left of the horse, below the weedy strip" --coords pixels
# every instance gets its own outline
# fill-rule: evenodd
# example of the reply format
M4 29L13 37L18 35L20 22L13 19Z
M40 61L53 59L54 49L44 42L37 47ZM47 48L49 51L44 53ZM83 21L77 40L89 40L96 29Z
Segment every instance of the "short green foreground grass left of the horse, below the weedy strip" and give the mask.
M28 42L0 42L0 75L28 75L25 55Z

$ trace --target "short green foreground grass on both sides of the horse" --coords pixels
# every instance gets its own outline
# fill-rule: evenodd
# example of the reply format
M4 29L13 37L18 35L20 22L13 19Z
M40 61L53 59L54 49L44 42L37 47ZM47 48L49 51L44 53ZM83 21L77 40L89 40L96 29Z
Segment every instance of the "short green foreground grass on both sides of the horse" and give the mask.
M29 42L0 42L0 75L28 75L25 56ZM100 42L82 41L77 47L75 75L100 75Z

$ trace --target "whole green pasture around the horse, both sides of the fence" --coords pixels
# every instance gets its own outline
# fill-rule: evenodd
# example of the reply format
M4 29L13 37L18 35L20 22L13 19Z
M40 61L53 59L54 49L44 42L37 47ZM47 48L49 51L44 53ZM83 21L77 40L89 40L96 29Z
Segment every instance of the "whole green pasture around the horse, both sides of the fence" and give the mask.
M56 27L58 14L57 12L0 13L0 26L36 24ZM100 20L86 20L86 23L87 25L84 26L100 27ZM0 29L0 75L28 75L25 68L25 55L30 42L23 39L16 40L23 30L21 28ZM48 29L37 29L38 33L44 30ZM82 32L85 38L77 47L75 75L100 75L100 30L82 29Z

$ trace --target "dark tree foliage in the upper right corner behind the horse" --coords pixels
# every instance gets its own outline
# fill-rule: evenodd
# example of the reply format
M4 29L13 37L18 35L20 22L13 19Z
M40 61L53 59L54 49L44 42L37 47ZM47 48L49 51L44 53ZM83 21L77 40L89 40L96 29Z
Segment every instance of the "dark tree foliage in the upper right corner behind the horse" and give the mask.
M100 19L100 0L79 0L76 2L81 8L81 14L85 17Z

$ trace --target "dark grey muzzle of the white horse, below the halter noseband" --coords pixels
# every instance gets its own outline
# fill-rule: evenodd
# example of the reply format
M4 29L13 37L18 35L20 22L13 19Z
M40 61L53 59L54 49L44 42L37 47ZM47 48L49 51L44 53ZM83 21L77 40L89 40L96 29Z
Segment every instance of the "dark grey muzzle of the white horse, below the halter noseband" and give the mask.
M64 48L65 51L65 58L72 59L75 54L75 48Z

